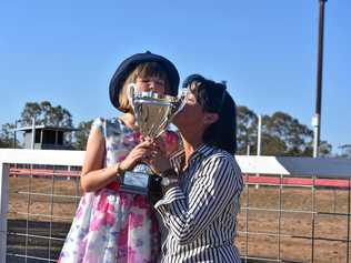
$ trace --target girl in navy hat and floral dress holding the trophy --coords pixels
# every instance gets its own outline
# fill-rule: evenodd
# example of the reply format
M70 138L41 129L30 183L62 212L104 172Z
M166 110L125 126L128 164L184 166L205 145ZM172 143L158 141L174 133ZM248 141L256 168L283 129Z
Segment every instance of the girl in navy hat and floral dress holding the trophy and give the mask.
M160 233L146 195L120 191L126 171L147 156L149 141L140 133L127 98L130 83L140 91L177 95L179 74L166 58L150 52L124 60L110 82L110 100L120 118L98 118L88 139L81 173L84 194L59 262L154 263Z

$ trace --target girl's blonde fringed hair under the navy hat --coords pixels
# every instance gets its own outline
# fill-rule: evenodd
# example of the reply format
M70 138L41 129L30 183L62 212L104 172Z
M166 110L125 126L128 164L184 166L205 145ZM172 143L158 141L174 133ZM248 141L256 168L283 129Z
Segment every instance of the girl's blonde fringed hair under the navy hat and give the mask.
M136 83L137 78L156 77L164 81L164 93L171 93L169 78L164 68L158 62L144 62L137 65L137 68L127 77L123 88L119 93L119 110L123 112L132 112L132 108L127 97L127 89L130 83Z

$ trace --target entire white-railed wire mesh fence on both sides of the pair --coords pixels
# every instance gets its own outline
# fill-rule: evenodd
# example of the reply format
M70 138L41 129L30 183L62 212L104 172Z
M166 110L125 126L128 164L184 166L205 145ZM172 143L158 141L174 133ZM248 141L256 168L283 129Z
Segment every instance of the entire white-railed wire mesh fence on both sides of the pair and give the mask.
M81 195L82 158L0 150L1 263L57 261ZM244 262L349 262L351 160L237 160L245 188L235 242Z

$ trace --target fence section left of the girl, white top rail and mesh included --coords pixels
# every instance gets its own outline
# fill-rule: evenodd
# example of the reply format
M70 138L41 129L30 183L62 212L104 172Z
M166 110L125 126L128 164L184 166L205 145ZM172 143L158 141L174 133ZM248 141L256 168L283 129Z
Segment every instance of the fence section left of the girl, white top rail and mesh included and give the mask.
M82 159L78 151L0 150L1 263L58 260L81 194Z

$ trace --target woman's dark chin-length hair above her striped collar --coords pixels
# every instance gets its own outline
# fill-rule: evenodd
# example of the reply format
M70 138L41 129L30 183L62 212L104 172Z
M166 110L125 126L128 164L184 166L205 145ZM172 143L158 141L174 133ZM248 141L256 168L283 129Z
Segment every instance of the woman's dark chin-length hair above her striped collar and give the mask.
M237 107L227 91L225 83L192 74L183 82L183 88L189 85L202 109L219 115L218 120L204 131L203 142L234 154L237 151ZM195 88L192 89L192 87Z

